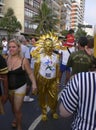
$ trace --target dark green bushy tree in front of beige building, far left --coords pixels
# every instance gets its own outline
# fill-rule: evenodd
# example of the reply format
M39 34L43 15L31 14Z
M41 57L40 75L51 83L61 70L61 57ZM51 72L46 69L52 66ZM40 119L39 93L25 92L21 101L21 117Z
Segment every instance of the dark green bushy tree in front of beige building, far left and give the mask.
M7 31L9 37L18 31L18 29L22 29L21 23L14 15L13 9L9 8L4 17L0 19L0 27Z

